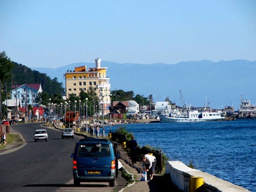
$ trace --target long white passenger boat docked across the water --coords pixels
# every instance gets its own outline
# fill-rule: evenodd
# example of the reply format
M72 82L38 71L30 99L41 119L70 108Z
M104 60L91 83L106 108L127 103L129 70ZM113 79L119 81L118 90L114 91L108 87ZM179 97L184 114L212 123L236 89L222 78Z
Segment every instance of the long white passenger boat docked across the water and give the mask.
M218 111L198 111L197 109L188 109L186 116L159 115L160 122L205 122L225 120L224 116Z

